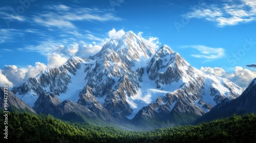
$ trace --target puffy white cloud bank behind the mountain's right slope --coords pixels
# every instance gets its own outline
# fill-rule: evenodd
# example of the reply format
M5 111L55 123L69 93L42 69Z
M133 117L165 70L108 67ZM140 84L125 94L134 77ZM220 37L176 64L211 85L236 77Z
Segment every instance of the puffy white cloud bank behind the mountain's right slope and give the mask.
M256 78L256 70L251 71L240 66L237 66L233 73L227 73L223 68L220 67L201 67L201 71L206 74L214 74L222 78L227 78L242 88L246 88L251 81Z

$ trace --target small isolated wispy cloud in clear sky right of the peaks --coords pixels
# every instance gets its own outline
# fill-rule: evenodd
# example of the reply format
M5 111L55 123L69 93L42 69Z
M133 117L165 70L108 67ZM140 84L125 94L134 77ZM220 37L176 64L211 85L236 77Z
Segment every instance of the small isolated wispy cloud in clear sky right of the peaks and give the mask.
M221 47L208 47L204 45L187 45L181 46L186 48L193 48L200 52L200 54L191 54L191 56L196 58L205 58L209 60L223 58L225 56L225 50Z

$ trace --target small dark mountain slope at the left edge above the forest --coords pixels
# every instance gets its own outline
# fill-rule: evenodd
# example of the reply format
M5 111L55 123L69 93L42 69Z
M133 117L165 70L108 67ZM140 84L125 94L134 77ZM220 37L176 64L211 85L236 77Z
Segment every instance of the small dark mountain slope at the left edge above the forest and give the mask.
M7 103L7 110L5 111L27 111L36 113L33 108L20 100L12 91L5 87L0 87L0 97L1 109L5 109L5 103Z

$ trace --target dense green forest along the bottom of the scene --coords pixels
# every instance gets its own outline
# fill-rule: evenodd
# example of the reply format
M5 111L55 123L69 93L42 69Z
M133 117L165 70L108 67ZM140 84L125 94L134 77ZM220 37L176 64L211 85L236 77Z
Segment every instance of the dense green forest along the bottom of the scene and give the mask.
M4 116L1 113L1 131ZM50 115L9 113L8 139L1 142L256 142L256 115L233 115L199 125L153 131L125 131L81 123L69 123Z

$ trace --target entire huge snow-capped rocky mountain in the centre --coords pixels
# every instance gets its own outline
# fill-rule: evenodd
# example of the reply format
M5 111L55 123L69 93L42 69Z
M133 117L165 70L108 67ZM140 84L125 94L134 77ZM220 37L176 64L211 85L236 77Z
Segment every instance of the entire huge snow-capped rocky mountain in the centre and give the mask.
M146 129L193 123L243 89L202 73L167 45L158 50L146 45L130 31L113 37L94 56L71 57L13 92L39 112L62 110L59 103L69 100L88 110L83 114Z

